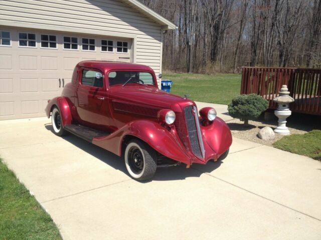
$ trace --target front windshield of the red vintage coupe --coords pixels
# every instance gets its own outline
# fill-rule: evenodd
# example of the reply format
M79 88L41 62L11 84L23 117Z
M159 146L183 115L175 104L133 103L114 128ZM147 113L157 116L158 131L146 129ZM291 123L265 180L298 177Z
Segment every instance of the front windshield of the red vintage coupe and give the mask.
M143 71L110 71L108 73L109 86L130 83L154 85L153 76Z

